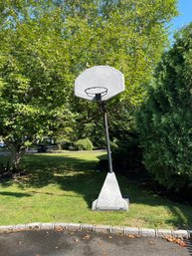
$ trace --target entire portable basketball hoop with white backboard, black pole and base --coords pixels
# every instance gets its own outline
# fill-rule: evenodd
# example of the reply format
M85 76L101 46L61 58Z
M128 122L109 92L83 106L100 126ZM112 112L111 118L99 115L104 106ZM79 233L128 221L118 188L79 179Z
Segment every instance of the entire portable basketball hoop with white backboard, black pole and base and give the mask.
M127 199L122 198L118 182L112 170L109 143L107 112L105 101L124 91L123 75L108 66L95 66L87 69L75 81L75 95L79 98L97 102L103 115L105 128L108 170L98 198L93 202L93 210L128 210Z

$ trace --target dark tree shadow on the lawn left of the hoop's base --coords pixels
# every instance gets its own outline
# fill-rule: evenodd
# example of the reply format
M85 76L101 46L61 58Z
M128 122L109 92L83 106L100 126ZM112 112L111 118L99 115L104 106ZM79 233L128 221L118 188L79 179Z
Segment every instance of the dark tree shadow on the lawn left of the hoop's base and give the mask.
M89 207L97 198L106 174L97 172L96 160L76 158L73 154L32 154L30 157L27 155L23 167L28 172L28 179L21 179L21 188L41 188L52 183L59 184L64 191L71 190L84 196ZM9 185L10 181L7 182Z

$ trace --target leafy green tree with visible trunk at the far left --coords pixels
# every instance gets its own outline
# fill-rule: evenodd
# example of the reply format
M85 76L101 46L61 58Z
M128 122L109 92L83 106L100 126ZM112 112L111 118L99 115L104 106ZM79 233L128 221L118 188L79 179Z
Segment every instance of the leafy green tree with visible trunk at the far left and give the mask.
M53 135L72 119L69 76L63 75L68 54L57 31L59 20L52 24L46 10L36 16L39 5L33 9L22 2L1 6L9 14L0 32L0 134L12 153L10 168L18 168L29 143Z

